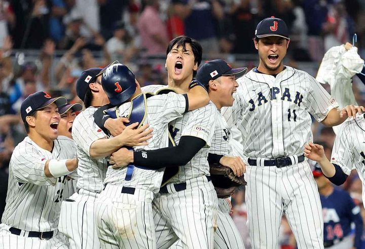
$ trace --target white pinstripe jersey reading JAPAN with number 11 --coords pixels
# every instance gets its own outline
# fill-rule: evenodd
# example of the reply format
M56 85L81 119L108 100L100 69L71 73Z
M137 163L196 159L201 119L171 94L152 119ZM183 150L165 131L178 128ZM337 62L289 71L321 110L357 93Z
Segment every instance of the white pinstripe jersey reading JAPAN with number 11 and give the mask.
M243 154L252 158L301 155L313 139L310 114L318 121L336 100L308 73L286 66L276 77L250 70L237 80L228 125L242 133Z

